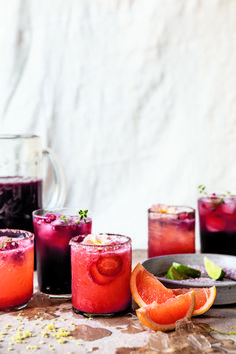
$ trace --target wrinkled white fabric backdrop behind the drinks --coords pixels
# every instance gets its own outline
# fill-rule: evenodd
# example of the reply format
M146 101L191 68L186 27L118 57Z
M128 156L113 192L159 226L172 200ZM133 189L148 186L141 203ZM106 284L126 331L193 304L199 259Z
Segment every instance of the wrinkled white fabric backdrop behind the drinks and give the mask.
M67 206L147 246L147 208L236 190L235 0L0 0L0 132L59 156Z

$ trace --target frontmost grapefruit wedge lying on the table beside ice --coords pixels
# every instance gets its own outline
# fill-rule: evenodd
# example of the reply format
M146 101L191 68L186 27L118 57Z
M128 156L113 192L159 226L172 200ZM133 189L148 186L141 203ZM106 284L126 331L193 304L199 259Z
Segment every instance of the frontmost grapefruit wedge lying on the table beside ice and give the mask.
M139 321L155 331L175 329L175 323L186 317L191 318L195 306L194 291L169 298L158 304L156 301L136 310Z

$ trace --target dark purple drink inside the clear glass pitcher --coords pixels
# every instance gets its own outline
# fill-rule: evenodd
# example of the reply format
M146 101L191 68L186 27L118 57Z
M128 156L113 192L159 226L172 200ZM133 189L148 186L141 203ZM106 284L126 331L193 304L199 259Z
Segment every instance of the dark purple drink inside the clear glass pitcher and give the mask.
M0 228L33 232L32 212L42 208L42 179L0 177Z

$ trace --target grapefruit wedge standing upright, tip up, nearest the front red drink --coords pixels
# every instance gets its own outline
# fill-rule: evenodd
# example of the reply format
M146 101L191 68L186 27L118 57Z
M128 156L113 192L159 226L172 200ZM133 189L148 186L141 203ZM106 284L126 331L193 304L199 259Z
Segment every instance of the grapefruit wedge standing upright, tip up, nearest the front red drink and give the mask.
M171 289L166 288L153 274L140 263L136 265L130 277L130 290L134 301L140 306L158 304L175 297Z

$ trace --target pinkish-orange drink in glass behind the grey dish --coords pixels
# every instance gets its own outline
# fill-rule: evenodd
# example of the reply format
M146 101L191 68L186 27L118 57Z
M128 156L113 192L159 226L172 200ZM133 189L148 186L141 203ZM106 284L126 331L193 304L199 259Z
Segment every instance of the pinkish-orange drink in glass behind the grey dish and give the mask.
M195 210L153 205L148 210L148 258L195 253Z

